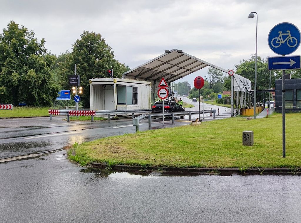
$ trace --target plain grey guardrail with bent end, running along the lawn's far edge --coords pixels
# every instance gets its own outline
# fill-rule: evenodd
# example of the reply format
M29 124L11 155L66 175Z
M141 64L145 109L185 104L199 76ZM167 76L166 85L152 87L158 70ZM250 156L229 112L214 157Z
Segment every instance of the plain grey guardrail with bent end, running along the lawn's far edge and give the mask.
M181 115L189 115L189 121L191 121L191 114L198 114L199 111L180 111L180 112L164 112L165 116L171 116L172 117L172 124L175 123L175 116L181 116ZM200 111L200 114L202 114L203 111ZM211 110L204 110L204 113L213 113L213 118L215 118L216 109ZM148 117L148 127L151 127L151 118L152 117L162 117L163 115L161 113L151 113L151 114L143 114L136 118L133 118L133 126L136 127L136 133L139 131L139 122L143 120L144 118Z

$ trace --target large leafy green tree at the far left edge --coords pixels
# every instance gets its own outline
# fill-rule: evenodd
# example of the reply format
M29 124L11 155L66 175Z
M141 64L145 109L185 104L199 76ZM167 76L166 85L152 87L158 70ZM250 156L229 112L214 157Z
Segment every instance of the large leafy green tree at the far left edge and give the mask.
M0 34L0 95L2 103L26 102L27 105L50 106L59 85L51 74L55 55L47 53L45 40L11 21Z

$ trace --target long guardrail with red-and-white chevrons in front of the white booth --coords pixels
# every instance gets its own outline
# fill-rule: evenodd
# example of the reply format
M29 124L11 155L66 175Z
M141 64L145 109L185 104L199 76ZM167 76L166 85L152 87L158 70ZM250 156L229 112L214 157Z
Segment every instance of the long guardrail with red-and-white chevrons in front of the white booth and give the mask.
M49 109L49 117L50 120L52 120L52 115L65 115L67 116L67 122L70 121L70 116L91 116L91 121L94 121L94 116L97 115L108 115L108 119L111 120L111 115L124 115L124 114L131 114L132 113L132 118L135 118L136 113L149 113L151 112L152 109L130 109L130 110L101 110L101 111L89 111L89 110L67 110L67 109L62 109L62 110L54 110L54 109ZM82 112L82 113L81 113Z

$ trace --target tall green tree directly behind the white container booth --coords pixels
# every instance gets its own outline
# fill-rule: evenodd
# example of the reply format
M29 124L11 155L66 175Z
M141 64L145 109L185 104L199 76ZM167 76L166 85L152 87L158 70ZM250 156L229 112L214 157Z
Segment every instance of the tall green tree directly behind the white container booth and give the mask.
M83 87L81 101L85 108L90 107L90 78L109 78L107 70L113 68L114 78L121 75L130 68L114 59L112 48L105 43L105 39L98 33L84 31L80 39L72 45L73 50L67 55L64 62L59 64L60 73L64 78L64 86L68 86L68 75L80 75L80 85Z

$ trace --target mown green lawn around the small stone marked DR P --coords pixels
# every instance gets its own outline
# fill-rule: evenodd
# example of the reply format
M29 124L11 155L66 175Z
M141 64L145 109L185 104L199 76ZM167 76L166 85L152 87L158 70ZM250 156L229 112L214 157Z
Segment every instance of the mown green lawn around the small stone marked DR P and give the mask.
M81 164L90 161L166 167L301 166L301 114L286 115L286 158L282 158L282 116L247 120L227 118L126 134L85 142L76 147ZM254 146L242 145L242 131L254 131ZM70 154L70 153L69 153Z

